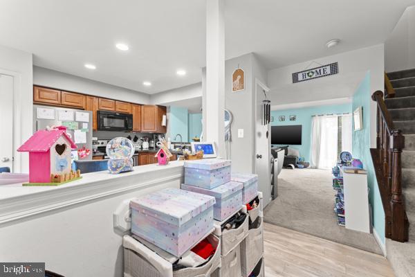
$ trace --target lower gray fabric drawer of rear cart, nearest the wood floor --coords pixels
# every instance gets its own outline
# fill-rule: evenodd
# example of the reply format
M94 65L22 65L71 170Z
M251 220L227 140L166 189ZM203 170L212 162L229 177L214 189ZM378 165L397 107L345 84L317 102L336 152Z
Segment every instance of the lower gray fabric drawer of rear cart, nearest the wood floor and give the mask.
M248 236L241 242L242 276L248 276L264 256L264 222L262 217L250 225Z

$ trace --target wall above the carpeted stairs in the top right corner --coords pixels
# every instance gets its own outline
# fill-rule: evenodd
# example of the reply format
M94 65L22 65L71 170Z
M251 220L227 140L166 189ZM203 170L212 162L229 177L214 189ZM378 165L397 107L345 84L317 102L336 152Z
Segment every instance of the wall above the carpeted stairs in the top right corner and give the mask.
M415 6L403 12L385 42L386 72L415 69Z

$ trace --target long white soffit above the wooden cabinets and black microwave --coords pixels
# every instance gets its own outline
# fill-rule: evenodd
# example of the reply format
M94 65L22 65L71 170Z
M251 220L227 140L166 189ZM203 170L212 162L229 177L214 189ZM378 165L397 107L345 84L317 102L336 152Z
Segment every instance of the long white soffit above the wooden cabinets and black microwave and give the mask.
M44 69L39 66L33 66L33 84L138 104L150 103L149 94L116 87L112 84L105 84L103 82L97 82L59 71Z

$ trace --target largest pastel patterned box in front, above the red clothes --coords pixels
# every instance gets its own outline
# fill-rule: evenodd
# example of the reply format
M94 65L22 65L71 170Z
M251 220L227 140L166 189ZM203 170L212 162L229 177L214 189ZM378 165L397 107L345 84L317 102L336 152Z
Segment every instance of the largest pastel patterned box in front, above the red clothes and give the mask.
M131 200L131 232L181 256L213 228L209 195L166 188Z

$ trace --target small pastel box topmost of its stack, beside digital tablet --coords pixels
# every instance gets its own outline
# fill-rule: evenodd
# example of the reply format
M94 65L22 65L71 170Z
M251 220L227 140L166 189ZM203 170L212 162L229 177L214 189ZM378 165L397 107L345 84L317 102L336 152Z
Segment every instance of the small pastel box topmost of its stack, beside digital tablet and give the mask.
M230 161L201 159L185 161L185 184L211 190L230 181Z

